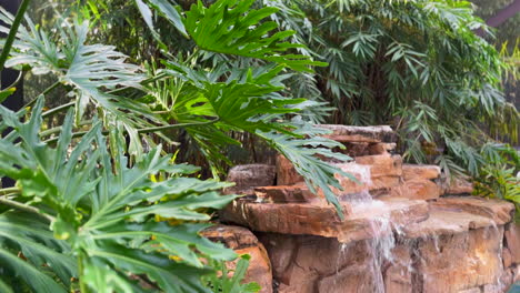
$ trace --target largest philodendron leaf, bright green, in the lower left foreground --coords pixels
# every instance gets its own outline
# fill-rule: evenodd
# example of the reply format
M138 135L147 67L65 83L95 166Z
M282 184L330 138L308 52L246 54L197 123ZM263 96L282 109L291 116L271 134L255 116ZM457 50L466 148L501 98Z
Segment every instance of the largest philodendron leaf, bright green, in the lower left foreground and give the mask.
M200 276L211 267L200 257L229 261L236 255L199 235L208 225L190 221L207 221L208 209L221 209L236 199L217 192L230 184L184 178L197 169L173 164L171 155L161 156L160 146L131 164L124 155L121 133L114 130L111 153L100 123L94 122L76 142L71 134L72 111L64 119L59 141L51 146L39 137L42 107L43 99L39 99L27 122L20 121L20 113L0 107L0 129L13 129L12 138L0 140L0 174L18 181L20 195L12 195L11 201L27 199L27 203L18 204L32 204L27 209L56 219L50 225L38 224L42 232L37 236L42 243L33 243L28 221L14 226L13 221L0 216L0 240L17 243L13 249L30 256L36 265L48 264L64 284L76 272L76 262L67 256L70 250L79 257L80 280L86 277L84 284L93 290L139 291L140 285L130 275L143 274L166 292L208 292ZM159 173L163 180L156 182L152 176ZM157 222L161 219L180 223L171 226ZM26 234L29 232L32 234ZM61 240L52 239L52 234ZM52 243L56 247L50 246ZM57 246L59 243L62 246ZM0 254L6 267L29 282L29 275L20 271L32 273L26 267L31 264L20 263L7 251ZM114 272L107 274L107 267ZM40 275L34 282L38 280L48 281Z

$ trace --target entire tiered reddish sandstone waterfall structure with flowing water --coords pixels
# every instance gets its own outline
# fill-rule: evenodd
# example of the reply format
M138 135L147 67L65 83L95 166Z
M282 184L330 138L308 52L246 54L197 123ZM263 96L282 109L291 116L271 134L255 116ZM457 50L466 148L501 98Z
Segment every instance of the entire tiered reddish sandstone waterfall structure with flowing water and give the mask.
M498 293L520 281L513 204L453 196L471 192L471 185L447 188L438 166L403 164L392 153L394 134L388 127L320 127L346 144L338 151L353 158L331 163L361 182L337 175L343 220L281 155L276 166L256 168L269 170L263 175L248 178L253 173L248 171L230 178L242 182L233 192L248 196L221 218L250 229L263 244L273 292Z

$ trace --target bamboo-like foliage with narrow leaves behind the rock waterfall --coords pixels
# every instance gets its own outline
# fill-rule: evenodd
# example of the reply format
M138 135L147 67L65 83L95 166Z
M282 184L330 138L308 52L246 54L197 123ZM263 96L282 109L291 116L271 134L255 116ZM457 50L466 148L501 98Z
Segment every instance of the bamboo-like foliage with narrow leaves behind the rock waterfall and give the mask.
M466 1L266 1L284 7L283 28L318 69L307 97L337 108L333 123L391 124L412 162L440 164L447 174L478 175L481 145L498 133L518 141L519 113L501 92L506 68L492 32ZM301 89L293 88L296 92ZM317 94L318 92L318 94Z

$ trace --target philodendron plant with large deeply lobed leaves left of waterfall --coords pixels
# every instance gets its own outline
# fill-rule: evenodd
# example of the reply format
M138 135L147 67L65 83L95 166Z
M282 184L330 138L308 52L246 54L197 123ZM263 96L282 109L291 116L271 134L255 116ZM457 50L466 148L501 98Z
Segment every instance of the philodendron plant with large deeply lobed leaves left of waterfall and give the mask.
M340 145L318 137L323 131L286 120L309 102L278 93L283 74L321 63L283 41L292 32L271 33L277 24L264 19L274 8L219 0L183 12L170 1L136 0L158 47L176 46L153 28L163 18L196 48L190 61L163 51L147 75L116 48L89 43L88 21L72 17L44 30L23 20L28 2L16 17L0 10L11 26L0 28L9 32L0 70L57 82L18 112L0 107L0 131L9 131L0 140L0 175L16 180L0 190L0 292L258 291L237 280L247 257L237 277L217 273L220 261L237 255L199 232L237 195L221 195L229 183L197 179L198 168L161 150L158 141L169 143L177 130L192 138L216 175L228 161L222 149L238 143L230 131L257 135L339 206L330 186L339 188L333 174L341 171L318 158L348 158L331 152ZM202 51L263 65L211 68L194 62ZM0 99L13 91L4 88ZM68 91L60 98L67 101L49 109L56 88Z

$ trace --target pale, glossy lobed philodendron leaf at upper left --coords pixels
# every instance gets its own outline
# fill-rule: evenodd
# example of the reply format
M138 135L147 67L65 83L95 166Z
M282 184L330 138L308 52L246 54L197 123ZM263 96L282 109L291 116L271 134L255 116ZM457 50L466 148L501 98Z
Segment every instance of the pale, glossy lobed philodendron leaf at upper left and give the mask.
M0 10L6 23L11 16ZM54 33L47 33L27 18L28 28L20 27L7 67L29 65L34 74L53 73L62 84L71 85L74 98L76 125L84 119L87 107L93 104L102 111L106 125L121 128L130 137L129 152L142 153L138 129L164 124L150 109L131 99L114 95L110 90L140 89L144 79L141 68L126 62L127 55L112 46L87 44L89 22L71 24L63 20ZM7 30L2 28L2 30ZM128 115L132 112L132 115Z

